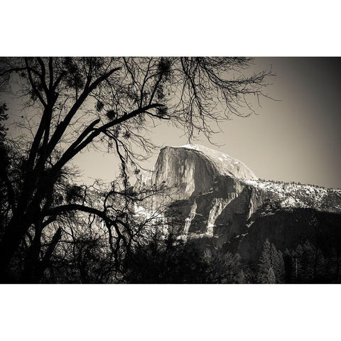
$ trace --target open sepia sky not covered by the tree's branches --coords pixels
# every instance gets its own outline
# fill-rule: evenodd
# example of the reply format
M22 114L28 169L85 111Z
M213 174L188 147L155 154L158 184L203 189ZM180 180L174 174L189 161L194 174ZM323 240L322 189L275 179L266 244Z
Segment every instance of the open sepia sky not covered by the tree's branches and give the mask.
M255 58L253 69L271 70L272 85L251 117L231 117L213 136L196 141L244 162L262 179L296 181L341 188L341 58ZM188 143L183 131L169 124L153 129L158 146ZM152 168L158 156L144 163ZM114 154L85 152L74 159L82 180L111 180L116 175Z

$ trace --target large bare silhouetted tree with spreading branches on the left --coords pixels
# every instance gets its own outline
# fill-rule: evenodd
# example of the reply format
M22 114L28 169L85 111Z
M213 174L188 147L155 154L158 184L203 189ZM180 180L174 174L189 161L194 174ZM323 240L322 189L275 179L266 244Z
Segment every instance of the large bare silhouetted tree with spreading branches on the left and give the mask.
M168 120L183 127L188 139L195 131L210 139L212 127L231 114L240 115L240 107L248 109L243 116L251 114L249 95L266 96L263 90L271 75L265 71L245 75L251 62L249 58L1 58L1 90L25 108L16 121L21 136L1 139L6 160L1 163L1 186L8 202L0 242L1 281L15 280L11 264L21 259L18 251L23 243L27 251L19 277L39 280L63 227L53 229L45 248L44 231L58 226L60 216L69 212L99 217L109 231L109 243L116 237L112 249L122 243L129 248L129 205L115 210L109 202L118 202L118 197L141 200L141 193L129 192L129 175L139 173L139 160L153 151L145 131L154 120ZM136 153L136 145L142 147L141 153ZM102 204L94 205L89 189L72 185L70 162L85 148L99 146L117 153L121 182L101 193Z

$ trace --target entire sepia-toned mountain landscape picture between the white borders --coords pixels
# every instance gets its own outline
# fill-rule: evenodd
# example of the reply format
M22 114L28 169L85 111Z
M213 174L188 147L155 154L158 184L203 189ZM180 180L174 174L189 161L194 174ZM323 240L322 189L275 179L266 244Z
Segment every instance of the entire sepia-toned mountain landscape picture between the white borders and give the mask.
M340 58L0 58L1 283L340 283Z

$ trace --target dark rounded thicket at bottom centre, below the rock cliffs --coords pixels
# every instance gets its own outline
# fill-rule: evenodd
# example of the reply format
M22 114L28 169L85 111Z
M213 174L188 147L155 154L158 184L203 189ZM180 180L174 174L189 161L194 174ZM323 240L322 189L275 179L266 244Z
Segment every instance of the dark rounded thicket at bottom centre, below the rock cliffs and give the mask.
M126 283L244 283L238 254L202 249L174 235L154 237L124 259Z

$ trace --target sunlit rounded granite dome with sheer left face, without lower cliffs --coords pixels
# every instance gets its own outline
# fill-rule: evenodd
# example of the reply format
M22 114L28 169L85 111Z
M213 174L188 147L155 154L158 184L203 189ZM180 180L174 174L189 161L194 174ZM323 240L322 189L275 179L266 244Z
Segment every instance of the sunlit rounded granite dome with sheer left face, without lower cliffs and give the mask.
M176 199L185 200L212 188L220 175L257 180L244 163L231 156L204 146L186 145L162 148L154 171L144 173L141 181L146 185L166 183L177 190Z

